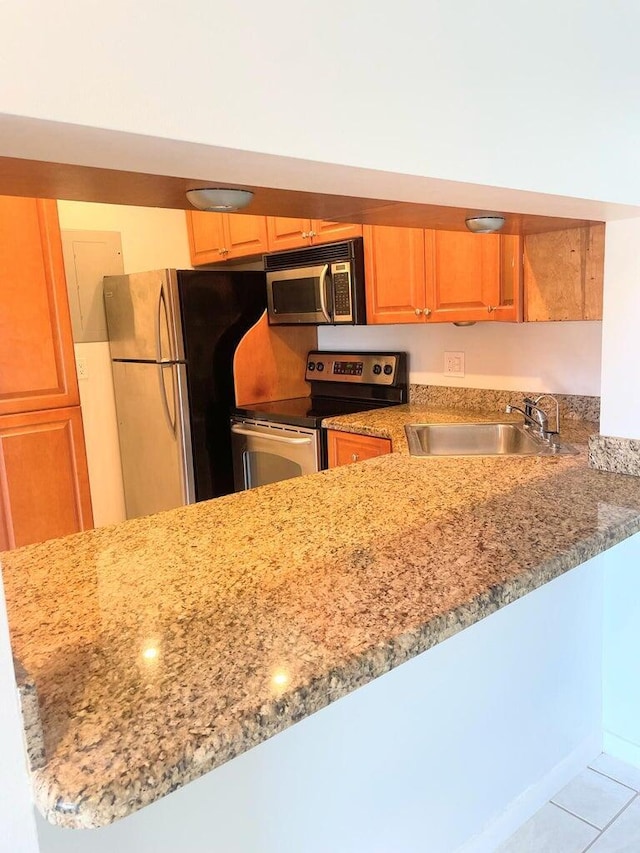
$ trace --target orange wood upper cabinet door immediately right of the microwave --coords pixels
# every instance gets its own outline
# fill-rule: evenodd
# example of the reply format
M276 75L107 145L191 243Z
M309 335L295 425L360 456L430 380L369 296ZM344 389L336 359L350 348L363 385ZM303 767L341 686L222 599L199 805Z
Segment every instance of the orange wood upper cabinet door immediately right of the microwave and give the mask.
M365 225L367 323L424 323L422 228Z

